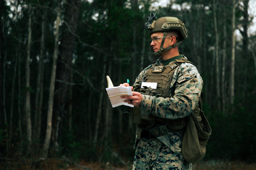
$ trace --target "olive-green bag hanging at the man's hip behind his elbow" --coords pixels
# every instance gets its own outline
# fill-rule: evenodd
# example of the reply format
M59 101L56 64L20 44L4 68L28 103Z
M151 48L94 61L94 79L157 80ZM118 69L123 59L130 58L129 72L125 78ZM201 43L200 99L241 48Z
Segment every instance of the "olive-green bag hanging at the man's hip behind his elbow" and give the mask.
M182 141L181 154L190 163L202 160L206 144L211 135L211 127L202 111L203 93L201 92L197 107L186 117L186 130Z

